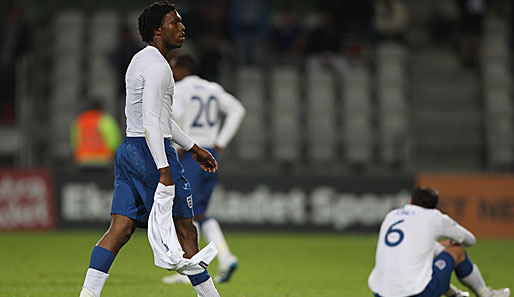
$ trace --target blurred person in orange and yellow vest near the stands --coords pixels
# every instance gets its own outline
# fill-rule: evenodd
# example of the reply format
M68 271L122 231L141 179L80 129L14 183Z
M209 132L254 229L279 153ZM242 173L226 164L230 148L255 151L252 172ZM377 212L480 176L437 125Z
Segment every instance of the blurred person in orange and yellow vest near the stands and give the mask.
M83 167L110 165L121 143L118 123L99 102L77 116L70 136L75 162Z

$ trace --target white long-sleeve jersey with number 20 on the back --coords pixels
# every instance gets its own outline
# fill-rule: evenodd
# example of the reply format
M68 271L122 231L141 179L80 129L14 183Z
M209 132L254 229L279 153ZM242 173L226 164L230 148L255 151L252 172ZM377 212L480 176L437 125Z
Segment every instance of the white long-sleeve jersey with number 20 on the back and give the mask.
M190 75L176 83L175 94L173 115L197 144L224 148L234 137L245 108L219 84Z

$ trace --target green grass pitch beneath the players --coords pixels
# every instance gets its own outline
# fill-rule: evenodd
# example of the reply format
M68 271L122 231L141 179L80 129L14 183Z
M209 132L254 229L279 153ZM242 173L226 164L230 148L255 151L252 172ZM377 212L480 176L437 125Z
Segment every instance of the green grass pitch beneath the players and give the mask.
M102 233L0 233L0 296L78 296ZM372 296L375 235L229 233L227 239L240 267L217 285L221 296ZM488 285L512 288L513 250L513 240L481 239L468 251ZM211 275L216 266L215 260ZM162 284L168 274L153 265L146 233L138 230L114 261L102 296L196 296L190 285Z

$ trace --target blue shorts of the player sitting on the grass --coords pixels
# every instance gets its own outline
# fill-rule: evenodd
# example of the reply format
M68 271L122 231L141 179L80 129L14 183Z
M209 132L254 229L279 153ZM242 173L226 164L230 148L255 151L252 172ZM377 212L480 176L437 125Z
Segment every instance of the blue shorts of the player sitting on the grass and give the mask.
M432 264L432 279L423 292L411 297L439 297L444 295L450 289L453 269L455 269L455 260L452 255L447 252L440 253L434 258ZM378 294L374 295L380 297Z

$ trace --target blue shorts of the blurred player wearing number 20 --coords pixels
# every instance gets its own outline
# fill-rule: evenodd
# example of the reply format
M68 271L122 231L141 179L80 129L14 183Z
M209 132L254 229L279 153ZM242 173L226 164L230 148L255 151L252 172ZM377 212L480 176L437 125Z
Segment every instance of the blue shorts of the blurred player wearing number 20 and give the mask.
M206 148L218 161L215 149ZM180 158L184 166L185 176L191 184L193 192L193 209L196 215L205 214L212 191L218 182L218 173L209 173L202 170L189 152L184 152Z

